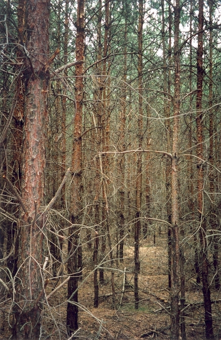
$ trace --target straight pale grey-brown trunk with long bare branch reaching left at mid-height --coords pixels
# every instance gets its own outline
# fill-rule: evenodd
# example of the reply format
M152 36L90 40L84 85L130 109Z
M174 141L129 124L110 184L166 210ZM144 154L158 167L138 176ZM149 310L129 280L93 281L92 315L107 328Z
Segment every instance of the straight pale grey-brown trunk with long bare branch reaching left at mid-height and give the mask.
M174 7L174 130L171 162L171 340L179 337L179 212L178 212L178 135L180 110L179 0Z

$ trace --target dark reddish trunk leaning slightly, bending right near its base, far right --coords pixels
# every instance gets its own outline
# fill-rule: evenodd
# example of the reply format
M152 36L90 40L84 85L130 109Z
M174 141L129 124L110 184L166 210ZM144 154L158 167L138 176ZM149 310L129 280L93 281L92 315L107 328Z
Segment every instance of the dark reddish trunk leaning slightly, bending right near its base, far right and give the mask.
M196 97L196 129L197 129L197 156L199 161L197 164L197 190L198 190L198 211L199 211L199 225L200 225L200 260L202 268L202 284L203 284L203 297L205 309L205 327L206 339L213 340L213 320L212 320L212 307L209 285L209 263L208 263L208 250L206 238L206 219L204 216L204 164L203 164L203 112L202 112L202 95L203 95L203 6L204 1L199 0L199 16L198 16L198 47L197 47L197 97Z

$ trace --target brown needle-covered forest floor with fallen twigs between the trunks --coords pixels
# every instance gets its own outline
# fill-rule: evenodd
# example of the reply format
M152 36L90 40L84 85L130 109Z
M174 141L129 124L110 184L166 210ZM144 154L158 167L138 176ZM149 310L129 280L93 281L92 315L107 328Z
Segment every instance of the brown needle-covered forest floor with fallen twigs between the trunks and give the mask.
M84 277L79 288L79 330L72 339L82 340L138 340L170 339L170 309L167 275L166 237L162 235L153 245L152 238L141 242L139 274L139 309L134 309L133 293L133 243L126 244L124 263L115 262L116 301L113 308L111 270L105 269L105 283L99 284L99 306L93 308L93 269L91 254L84 259ZM106 265L107 266L107 265ZM188 267L188 266L187 266ZM124 272L126 271L125 292L122 294ZM89 274L90 273L90 274ZM202 290L195 283L191 270L186 280L185 328L187 340L204 340L204 308ZM60 282L57 284L59 285ZM50 283L47 294L53 290ZM67 339L65 319L65 284L49 299L44 310L43 339ZM220 292L212 289L213 320L215 339L221 340L221 298ZM6 321L6 320L5 320ZM7 337L8 328L1 332L0 339ZM181 338L180 338L181 339Z

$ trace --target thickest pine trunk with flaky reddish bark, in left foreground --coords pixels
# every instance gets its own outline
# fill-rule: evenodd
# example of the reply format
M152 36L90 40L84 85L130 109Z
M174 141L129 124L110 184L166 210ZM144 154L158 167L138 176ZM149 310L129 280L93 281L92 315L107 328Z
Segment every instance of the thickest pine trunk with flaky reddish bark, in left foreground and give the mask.
M22 152L23 206L20 208L20 242L13 337L39 340L41 333L44 262L44 168L47 126L49 0L27 1L27 41L24 71L26 92Z

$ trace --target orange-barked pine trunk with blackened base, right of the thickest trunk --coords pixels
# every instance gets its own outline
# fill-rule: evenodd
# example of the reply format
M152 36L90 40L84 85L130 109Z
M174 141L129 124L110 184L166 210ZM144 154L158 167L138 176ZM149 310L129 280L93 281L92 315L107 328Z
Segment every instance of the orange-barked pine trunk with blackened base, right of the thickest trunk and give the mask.
M76 36L76 61L84 60L85 50L85 0L78 0L77 7L77 36ZM72 152L72 196L71 196L71 223L68 239L68 273L71 275L68 281L68 302L67 305L67 332L71 336L72 332L78 329L78 230L75 224L81 222L81 181L82 181L82 112L83 112L83 91L84 91L84 65L79 64L75 68L75 118L73 132L73 152Z

